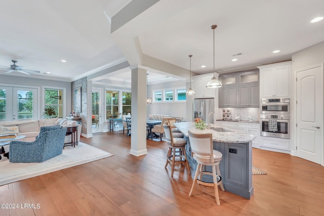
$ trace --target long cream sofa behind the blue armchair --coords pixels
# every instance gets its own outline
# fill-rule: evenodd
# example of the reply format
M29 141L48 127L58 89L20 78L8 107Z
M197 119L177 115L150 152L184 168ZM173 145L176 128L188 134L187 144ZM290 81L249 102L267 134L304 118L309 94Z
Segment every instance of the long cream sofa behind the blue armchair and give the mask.
M80 140L82 124L77 124L73 120L62 120L60 118L21 120L21 121L3 121L0 122L0 134L18 134L26 136L27 142L32 142L39 134L42 126L51 126L60 124L61 126L78 125L77 141ZM71 136L65 137L65 143L71 142Z

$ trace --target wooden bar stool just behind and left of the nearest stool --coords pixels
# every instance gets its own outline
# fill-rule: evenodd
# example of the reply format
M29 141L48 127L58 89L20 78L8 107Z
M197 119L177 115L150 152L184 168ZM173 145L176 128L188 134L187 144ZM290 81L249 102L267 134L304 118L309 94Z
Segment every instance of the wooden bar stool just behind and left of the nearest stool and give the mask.
M190 173L190 168L189 168L186 149L185 149L187 140L185 138L173 137L171 126L168 123L165 123L163 127L164 127L164 132L166 135L167 142L169 144L167 163L165 165L165 168L167 168L168 164L170 163L170 165L172 166L171 176L173 176L174 165L175 164L182 165L183 163L185 163ZM177 149L179 151L176 151ZM176 157L178 159L176 159Z

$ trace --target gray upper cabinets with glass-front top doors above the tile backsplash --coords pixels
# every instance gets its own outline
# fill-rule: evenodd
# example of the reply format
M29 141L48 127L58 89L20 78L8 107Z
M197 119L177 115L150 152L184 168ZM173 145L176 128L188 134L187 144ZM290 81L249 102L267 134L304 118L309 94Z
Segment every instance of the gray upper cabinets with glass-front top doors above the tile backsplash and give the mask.
M221 74L219 79L219 107L259 107L259 71Z

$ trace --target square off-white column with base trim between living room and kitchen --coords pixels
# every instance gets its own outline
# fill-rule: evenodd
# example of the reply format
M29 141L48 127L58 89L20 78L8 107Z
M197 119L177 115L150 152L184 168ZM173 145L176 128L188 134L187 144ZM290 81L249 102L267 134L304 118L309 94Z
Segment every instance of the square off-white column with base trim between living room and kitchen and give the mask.
M146 148L146 68L140 65L132 69L132 129L131 152L140 156Z

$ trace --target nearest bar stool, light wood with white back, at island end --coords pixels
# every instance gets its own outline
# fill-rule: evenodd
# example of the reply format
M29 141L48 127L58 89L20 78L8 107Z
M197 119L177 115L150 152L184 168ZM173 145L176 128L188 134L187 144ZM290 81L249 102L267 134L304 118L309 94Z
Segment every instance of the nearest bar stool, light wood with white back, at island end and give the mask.
M221 171L219 168L219 163L222 160L222 153L213 149L213 135L212 134L194 134L188 131L190 147L193 154L193 158L197 161L197 168L194 175L194 180L192 182L191 190L189 196L195 189L196 183L213 186L215 192L215 198L217 205L220 205L218 185L221 187L222 191L225 191ZM203 171L203 165L212 166L212 172ZM201 180L202 175L212 175L213 182L208 183ZM198 178L200 176L200 178Z

